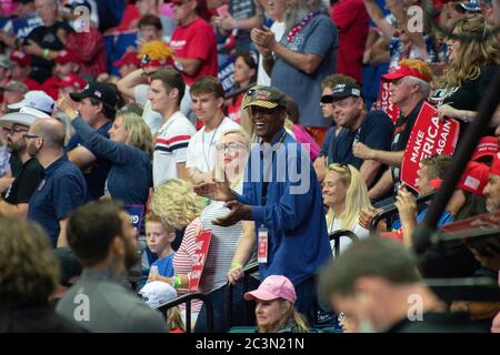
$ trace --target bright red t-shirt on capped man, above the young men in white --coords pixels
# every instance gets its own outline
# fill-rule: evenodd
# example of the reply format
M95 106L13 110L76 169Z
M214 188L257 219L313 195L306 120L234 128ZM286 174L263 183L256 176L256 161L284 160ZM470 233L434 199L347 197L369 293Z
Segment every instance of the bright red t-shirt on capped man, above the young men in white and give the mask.
M202 61L194 75L181 72L187 85L191 87L201 77L212 75L217 78L217 40L213 29L207 21L198 18L186 27L178 26L172 34L170 47L181 58Z

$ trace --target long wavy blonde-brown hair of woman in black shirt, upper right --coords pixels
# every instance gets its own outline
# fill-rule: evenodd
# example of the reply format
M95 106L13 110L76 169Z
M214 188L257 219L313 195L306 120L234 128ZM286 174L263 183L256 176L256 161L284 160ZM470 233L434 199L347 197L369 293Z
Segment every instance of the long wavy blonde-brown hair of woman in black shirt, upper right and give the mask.
M482 14L467 14L452 26L459 36L474 36L460 39L460 55L456 63L440 78L440 85L460 87L466 80L476 80L488 64L499 63L499 44L494 33ZM478 38L479 37L479 38Z

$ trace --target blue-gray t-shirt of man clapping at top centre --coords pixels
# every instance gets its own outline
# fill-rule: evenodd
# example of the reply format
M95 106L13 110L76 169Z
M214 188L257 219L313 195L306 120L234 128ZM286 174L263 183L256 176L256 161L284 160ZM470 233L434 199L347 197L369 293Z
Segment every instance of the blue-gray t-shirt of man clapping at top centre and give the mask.
M319 14L292 41L288 41L287 34L284 32L281 38L281 44L298 53L318 54L323 60L313 73L307 74L277 57L271 72L271 85L298 103L300 124L328 126L330 122L323 119L320 106L321 81L337 73L337 27L329 17Z

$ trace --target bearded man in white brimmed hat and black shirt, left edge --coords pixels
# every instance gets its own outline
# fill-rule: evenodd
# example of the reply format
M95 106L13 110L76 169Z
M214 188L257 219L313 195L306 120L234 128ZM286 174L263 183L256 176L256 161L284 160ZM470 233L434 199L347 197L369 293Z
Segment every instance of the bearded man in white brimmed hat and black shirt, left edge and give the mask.
M7 133L12 172L12 178L2 179L7 190L2 190L0 196L0 216L26 217L31 195L43 178L43 168L28 154L23 138L37 119L37 115L24 112L9 113L0 119L0 126Z

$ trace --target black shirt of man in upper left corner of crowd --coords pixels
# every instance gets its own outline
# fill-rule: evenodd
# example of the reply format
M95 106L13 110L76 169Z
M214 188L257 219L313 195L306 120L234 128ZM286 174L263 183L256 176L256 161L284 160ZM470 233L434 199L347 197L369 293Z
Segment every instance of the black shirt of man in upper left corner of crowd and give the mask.
M49 49L52 51L60 51L64 49L64 43L58 37L61 31L67 34L72 31L67 21L58 21L52 26L40 26L33 29L28 34L27 40L31 40L38 43L42 49ZM53 62L48 61L41 57L33 55L33 63L31 65L30 77L37 80L39 83L43 83L52 75Z

